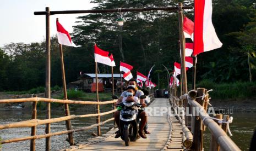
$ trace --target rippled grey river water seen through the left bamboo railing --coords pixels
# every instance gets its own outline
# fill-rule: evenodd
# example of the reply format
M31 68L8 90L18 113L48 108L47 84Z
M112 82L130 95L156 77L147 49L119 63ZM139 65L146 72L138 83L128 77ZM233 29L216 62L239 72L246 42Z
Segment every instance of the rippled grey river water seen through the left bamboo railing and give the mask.
M103 112L103 111L102 111ZM91 113L91 112L90 112ZM64 111L52 111L52 118L63 117ZM89 114L89 112L72 112L71 114L82 115ZM0 112L0 124L8 124L21 120L29 120L31 119L31 111L8 111L8 112ZM109 119L112 117L112 114L105 115L101 117L101 121ZM45 112L41 111L37 113L37 119L45 119ZM90 118L77 118L72 121L73 129L77 129L79 127L90 126L96 123L95 117ZM113 126L113 122L108 122L105 125L101 126L102 133L105 133L109 130L110 127ZM51 124L51 132L64 131L66 130L65 121L59 123ZM74 133L75 142L85 141L87 138L92 137L91 133L97 133L96 127L94 129L80 131ZM21 127L14 129L4 129L0 130L0 137L2 140L8 140L10 138L20 138L30 136L31 128ZM45 133L45 125L39 125L36 127L36 134L42 135ZM68 138L67 135L58 135L51 137L51 150L59 150L63 148L69 147L69 143L66 141ZM14 142L8 144L2 144L2 150L30 150L30 140L29 141L21 141ZM45 138L40 140L36 140L36 150L45 150Z

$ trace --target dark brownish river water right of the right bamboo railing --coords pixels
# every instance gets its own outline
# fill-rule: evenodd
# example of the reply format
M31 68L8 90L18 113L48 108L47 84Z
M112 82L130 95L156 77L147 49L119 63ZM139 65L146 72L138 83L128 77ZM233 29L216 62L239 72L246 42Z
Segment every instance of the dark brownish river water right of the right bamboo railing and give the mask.
M256 113L233 113L233 123L230 124L230 130L233 136L231 139L242 150L249 150L250 140L256 127ZM204 149L209 150L211 135L206 131L204 135Z

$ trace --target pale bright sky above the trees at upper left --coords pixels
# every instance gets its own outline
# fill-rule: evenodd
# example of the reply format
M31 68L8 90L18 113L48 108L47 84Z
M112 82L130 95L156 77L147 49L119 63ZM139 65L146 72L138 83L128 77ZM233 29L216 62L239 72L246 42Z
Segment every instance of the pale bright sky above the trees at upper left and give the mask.
M1 0L0 1L0 47L11 42L41 42L45 39L45 15L34 15L34 11L87 10L96 4L90 0ZM50 16L51 36L56 34L56 18L68 32L78 16L86 14L61 14Z

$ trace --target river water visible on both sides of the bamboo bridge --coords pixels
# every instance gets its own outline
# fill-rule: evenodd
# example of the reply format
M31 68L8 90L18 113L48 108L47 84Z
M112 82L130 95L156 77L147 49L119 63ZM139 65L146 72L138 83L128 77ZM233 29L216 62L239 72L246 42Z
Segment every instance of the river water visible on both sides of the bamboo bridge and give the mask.
M88 114L89 112L72 112L71 114L81 115ZM52 111L52 118L62 117L63 112ZM31 118L31 111L13 111L13 112L0 112L0 124L13 123L21 120L29 120ZM252 138L253 131L256 126L256 113L233 113L230 114L233 117L233 123L230 124L230 129L233 134L231 139L242 149L248 150L250 139ZM111 118L112 114L105 115L102 117L101 121ZM45 112L39 112L37 115L38 119L45 118ZM95 124L95 117L92 118L78 118L72 120L73 128L79 128L83 126L89 126ZM101 127L102 133L107 132L113 123L110 121ZM64 131L66 130L66 125L64 122L53 123L51 124L51 131ZM75 132L74 139L75 142L85 141L87 138L92 137L91 133L96 133L96 127L91 130ZM30 136L30 128L15 128L15 129L4 129L0 130L0 137L2 140L8 140L10 138L26 137ZM41 135L45 132L45 125L39 125L36 128L36 134ZM209 131L205 132L204 148L209 150L210 144L210 133ZM59 135L51 137L51 150L59 150L67 148L69 143L65 141L67 135ZM54 145L53 145L54 144ZM15 142L9 144L2 144L2 150L29 150L30 141ZM45 150L45 139L36 140L36 150Z

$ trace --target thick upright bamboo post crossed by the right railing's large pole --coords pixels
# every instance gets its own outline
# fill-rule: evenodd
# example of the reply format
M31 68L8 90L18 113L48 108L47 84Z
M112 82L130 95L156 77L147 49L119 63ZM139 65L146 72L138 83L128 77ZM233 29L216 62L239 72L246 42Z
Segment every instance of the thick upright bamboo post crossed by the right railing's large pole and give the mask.
M197 101L201 106L204 104L204 100L200 96L203 96L206 93L206 89L198 88L197 89ZM193 144L190 149L199 151L203 150L203 122L198 116L193 116Z

